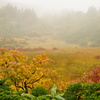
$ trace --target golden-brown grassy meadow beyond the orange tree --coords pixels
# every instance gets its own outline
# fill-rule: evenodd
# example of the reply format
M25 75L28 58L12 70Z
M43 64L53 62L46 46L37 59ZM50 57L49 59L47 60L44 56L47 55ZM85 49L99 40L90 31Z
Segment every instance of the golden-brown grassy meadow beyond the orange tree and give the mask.
M62 80L70 82L80 80L89 69L100 65L100 48L66 48L23 52L30 58L39 54L47 54L53 62L45 68L53 69L62 76Z

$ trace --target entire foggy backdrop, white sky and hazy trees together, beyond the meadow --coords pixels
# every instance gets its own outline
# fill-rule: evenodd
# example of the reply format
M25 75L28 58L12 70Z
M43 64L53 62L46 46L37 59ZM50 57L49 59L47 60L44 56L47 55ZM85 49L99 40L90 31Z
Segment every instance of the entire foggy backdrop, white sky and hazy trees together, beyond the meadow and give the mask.
M99 0L0 0L0 46L100 47Z

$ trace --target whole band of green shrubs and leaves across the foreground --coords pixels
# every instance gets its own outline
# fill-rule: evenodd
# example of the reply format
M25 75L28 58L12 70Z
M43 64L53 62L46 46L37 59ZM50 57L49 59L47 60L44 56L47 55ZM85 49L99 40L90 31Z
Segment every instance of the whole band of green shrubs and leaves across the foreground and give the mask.
M30 93L10 88L12 83L7 79L0 80L0 100L100 100L100 83L70 84L63 93L57 92L54 85L50 91L36 87Z

